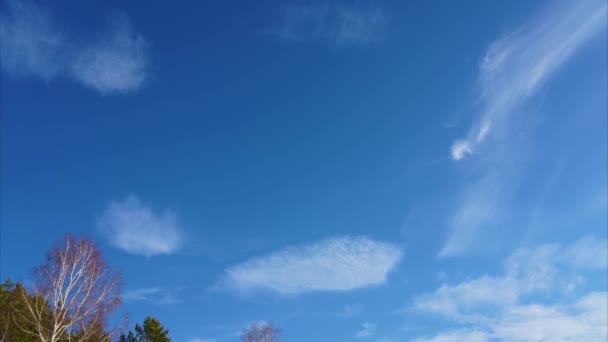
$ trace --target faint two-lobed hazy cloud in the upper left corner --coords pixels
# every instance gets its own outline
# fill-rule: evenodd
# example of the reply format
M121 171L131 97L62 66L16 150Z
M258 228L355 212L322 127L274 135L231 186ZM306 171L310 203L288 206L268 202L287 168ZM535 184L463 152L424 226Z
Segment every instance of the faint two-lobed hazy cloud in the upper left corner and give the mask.
M33 3L9 1L0 19L0 64L16 78L69 78L102 94L134 91L147 79L144 39L124 14L84 42Z

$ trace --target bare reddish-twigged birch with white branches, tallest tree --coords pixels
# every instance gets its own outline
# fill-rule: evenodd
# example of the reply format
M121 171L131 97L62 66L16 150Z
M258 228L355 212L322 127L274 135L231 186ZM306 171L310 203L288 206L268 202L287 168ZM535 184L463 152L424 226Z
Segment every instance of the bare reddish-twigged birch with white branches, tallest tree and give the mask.
M88 239L67 235L34 275L33 298L24 298L24 318L36 327L28 332L41 342L94 339L103 334L108 315L121 302L119 274Z

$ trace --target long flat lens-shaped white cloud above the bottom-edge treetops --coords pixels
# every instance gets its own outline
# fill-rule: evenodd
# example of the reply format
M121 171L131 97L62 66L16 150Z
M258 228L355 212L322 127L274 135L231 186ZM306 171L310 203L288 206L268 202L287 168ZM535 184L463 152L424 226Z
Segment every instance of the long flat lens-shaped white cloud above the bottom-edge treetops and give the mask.
M401 254L395 245L365 237L332 238L230 267L219 285L281 294L352 290L384 283Z

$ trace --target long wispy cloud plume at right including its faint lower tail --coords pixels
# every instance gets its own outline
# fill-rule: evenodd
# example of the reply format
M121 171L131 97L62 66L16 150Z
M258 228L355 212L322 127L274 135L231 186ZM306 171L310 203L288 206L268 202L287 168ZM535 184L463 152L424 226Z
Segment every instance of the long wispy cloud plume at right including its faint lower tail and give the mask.
M467 160L472 180L456 195L441 257L471 253L498 234L513 189L523 177L532 121L522 107L560 67L606 27L600 0L553 2L513 33L492 43L479 69L481 110L451 147ZM524 127L522 127L524 126ZM469 158L467 158L469 157Z

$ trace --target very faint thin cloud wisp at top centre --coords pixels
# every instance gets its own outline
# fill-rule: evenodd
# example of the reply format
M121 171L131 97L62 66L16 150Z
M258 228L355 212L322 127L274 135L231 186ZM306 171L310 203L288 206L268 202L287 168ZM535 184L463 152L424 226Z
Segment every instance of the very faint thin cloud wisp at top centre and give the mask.
M337 4L288 6L270 30L284 41L323 41L332 47L367 46L382 42L388 24L379 8Z

